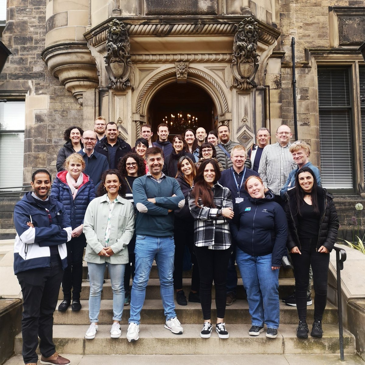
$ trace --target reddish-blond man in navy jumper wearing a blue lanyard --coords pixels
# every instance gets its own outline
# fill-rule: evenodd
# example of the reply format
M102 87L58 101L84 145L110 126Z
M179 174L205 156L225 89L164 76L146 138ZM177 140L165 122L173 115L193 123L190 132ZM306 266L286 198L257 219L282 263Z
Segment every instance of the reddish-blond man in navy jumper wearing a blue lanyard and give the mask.
M249 176L258 176L258 173L245 167L247 153L245 147L238 145L231 150L231 160L233 166L224 170L220 175L219 183L230 189L233 199L233 207L249 197L249 193L245 190L245 180ZM226 305L230 306L236 301L237 295L237 271L234 266L236 258L235 250L228 261L227 269L227 299Z

